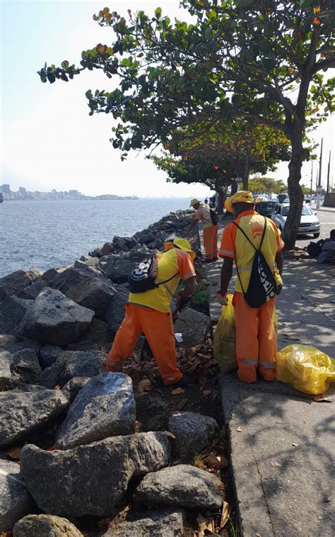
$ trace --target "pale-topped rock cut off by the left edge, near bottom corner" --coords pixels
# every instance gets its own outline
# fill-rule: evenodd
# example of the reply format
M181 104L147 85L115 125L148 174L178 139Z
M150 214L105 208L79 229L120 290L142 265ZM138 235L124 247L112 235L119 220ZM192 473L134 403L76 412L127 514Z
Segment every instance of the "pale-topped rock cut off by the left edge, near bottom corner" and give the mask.
M20 465L0 459L0 531L12 531L22 516L36 507L20 474ZM2 533L1 533L2 534Z

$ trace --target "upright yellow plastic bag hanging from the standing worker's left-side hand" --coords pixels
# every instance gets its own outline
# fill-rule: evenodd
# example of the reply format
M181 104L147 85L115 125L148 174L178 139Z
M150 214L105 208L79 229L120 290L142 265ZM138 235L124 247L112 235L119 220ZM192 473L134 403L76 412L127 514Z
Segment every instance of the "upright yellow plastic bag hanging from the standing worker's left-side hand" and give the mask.
M214 357L223 373L237 368L235 341L236 329L234 319L233 295L227 296L221 317L214 333Z

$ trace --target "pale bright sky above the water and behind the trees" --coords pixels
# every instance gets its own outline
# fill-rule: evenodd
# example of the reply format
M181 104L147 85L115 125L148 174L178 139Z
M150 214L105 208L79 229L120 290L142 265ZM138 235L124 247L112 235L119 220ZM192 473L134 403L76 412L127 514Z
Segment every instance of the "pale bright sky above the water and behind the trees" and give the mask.
M74 1L0 0L1 6L1 178L11 190L24 186L30 191L76 189L90 196L205 197L201 185L166 182L146 154L130 152L121 162L110 143L111 115L90 117L85 93L88 89L112 91L114 83L100 72L84 72L73 81L42 84L37 70L63 60L76 63L81 51L97 43L110 44L112 30L93 21L93 13L109 6L122 15L127 9L153 13L160 6L173 20L187 18L179 0ZM334 118L314 133L324 137L322 183L327 182L329 150L334 175ZM317 149L319 155L319 149ZM314 177L316 179L316 163ZM302 168L302 183L310 185L311 164ZM288 163L266 176L286 181ZM335 181L334 181L335 185Z

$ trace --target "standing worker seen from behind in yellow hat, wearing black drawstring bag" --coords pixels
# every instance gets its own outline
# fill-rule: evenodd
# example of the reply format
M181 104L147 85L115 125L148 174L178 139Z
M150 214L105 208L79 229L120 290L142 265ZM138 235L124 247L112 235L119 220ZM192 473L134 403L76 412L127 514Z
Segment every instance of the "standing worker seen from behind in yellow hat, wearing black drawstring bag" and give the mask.
M238 277L233 298L237 375L246 383L254 383L257 380L257 367L259 367L264 380L276 380L275 298L271 298L261 307L250 307L245 300L255 249L259 249L260 245L261 254L271 269L270 273L272 271L274 281L278 286L277 294L283 285L281 280L283 270L281 250L284 243L274 222L269 218L266 218L265 222L264 217L259 215L253 206L252 193L248 191L236 192L225 200L225 208L230 213L234 213L235 220L223 230L219 250L219 256L223 257L221 289L218 291L221 303L224 303L228 292L234 259L237 266ZM263 237L262 242L261 237Z

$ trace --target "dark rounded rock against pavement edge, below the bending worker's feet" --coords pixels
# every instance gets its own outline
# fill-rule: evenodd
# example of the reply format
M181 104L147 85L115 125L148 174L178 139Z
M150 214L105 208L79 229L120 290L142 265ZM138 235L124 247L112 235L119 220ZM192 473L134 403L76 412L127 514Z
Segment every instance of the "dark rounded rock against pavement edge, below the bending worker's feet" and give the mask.
M194 412L174 412L167 429L175 435L172 455L184 463L191 463L194 456L204 451L218 431L215 419Z

